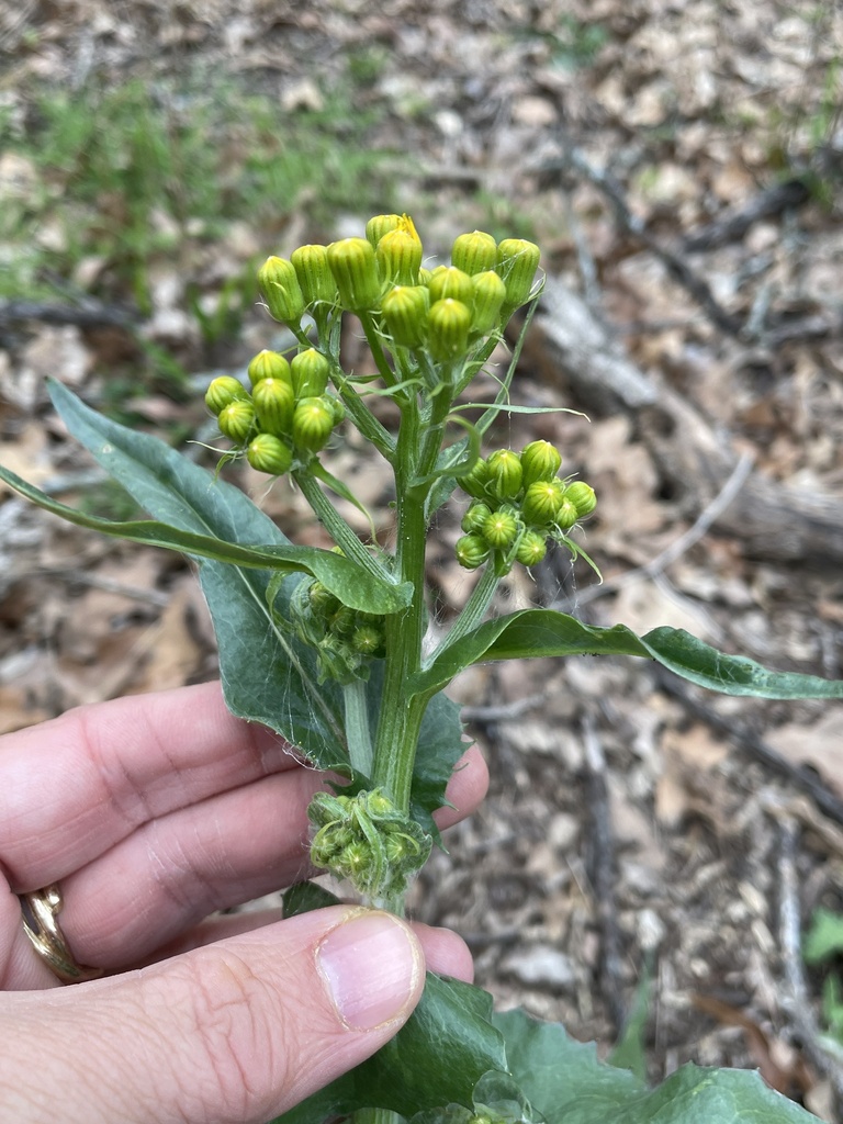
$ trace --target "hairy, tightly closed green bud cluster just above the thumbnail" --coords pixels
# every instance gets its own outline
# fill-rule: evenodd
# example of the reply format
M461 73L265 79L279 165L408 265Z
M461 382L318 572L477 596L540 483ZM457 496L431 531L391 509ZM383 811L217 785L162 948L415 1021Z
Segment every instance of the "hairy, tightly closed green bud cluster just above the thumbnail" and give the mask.
M405 890L430 853L430 836L379 788L356 796L317 792L307 814L316 828L314 865L347 878L370 900Z

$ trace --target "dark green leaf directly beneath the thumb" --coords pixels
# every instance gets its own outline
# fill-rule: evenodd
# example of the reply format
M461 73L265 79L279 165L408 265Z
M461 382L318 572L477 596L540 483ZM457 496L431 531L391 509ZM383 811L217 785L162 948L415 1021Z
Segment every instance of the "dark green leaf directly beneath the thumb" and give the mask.
M491 1003L480 988L428 972L422 1000L390 1042L273 1124L321 1124L359 1108L409 1117L452 1102L470 1106L483 1073L506 1070Z

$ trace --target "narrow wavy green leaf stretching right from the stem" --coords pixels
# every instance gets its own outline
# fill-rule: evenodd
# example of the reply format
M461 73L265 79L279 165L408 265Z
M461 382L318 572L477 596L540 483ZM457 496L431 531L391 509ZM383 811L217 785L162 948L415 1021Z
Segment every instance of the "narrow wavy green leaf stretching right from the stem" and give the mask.
M768 671L754 660L726 655L681 628L653 628L636 636L625 625L600 628L553 609L523 609L489 620L441 652L415 676L410 690L441 690L463 668L486 660L556 655L636 655L724 695L771 699L843 698L843 681Z

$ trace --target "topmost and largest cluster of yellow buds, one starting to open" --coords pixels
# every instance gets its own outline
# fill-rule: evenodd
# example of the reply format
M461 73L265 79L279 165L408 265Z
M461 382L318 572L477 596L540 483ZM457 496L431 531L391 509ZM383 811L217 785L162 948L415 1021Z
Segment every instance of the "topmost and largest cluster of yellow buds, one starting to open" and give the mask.
M308 245L289 260L268 257L257 273L266 308L298 332L307 314L339 307L372 315L399 347L424 347L435 362L463 359L504 329L534 289L540 251L532 242L474 230L454 242L451 264L423 268L407 215L377 215L364 238Z

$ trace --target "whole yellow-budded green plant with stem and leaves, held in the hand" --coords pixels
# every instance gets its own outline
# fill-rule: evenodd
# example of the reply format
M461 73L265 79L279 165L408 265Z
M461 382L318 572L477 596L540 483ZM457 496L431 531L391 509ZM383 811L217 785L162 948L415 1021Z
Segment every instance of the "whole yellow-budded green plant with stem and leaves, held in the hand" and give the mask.
M551 544L583 554L574 536L597 498L586 481L560 474L562 454L549 442L482 455L498 415L519 409L510 386L541 292L538 247L496 243L475 230L456 238L450 265L430 271L423 260L406 215L372 218L365 237L270 257L259 284L271 316L292 332L294 354L263 351L248 365L248 386L223 377L208 388L206 401L225 439L221 464L245 457L270 478L288 478L333 549L292 544L219 469L208 472L155 437L100 416L57 383L51 393L67 428L153 518L96 518L0 469L8 484L72 523L197 561L230 710L345 779L310 805L314 865L397 914L408 882L439 842L433 813L465 749L459 709L443 692L471 664L631 655L729 695L843 697L843 682L777 674L672 628L637 636L622 625L595 627L538 608L487 619L498 583L514 566L541 562ZM461 401L519 308L526 315L511 362L489 372L497 379L493 401ZM366 373L342 365L346 314L365 335L373 360ZM392 401L393 428L370 408L381 397ZM335 504L339 498L364 510L327 466L346 426L393 473L390 547L374 528L363 541ZM432 519L454 492L469 499L456 559L479 572L462 611L434 636L425 546ZM333 900L312 882L284 896L288 914ZM746 1072L688 1066L649 1090L633 1073L599 1062L593 1045L573 1042L561 1026L520 1012L495 1015L486 992L434 975L392 1042L282 1120L319 1124L353 1115L378 1124L810 1118Z

